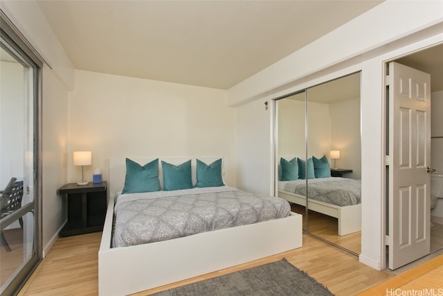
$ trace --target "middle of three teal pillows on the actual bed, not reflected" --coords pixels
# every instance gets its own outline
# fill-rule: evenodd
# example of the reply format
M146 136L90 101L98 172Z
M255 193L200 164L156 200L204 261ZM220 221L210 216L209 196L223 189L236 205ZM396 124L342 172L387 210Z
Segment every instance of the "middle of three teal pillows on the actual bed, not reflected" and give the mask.
M191 159L179 166L161 161L163 168L163 190L179 190L192 188Z

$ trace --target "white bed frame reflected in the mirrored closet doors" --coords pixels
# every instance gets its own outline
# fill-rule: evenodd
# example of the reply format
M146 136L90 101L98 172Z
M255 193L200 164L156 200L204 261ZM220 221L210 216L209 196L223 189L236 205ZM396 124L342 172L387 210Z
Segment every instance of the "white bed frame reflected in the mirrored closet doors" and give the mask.
M288 202L306 207L306 197L304 195L279 190L278 196ZM335 204L309 199L308 209L337 218L339 236L361 231L361 203L341 207Z

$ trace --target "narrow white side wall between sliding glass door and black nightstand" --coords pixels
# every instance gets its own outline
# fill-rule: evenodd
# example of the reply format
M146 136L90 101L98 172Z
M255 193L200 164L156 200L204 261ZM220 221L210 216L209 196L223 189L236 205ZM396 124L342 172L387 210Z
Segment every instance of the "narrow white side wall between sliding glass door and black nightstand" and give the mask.
M42 219L44 256L66 221L66 197L57 189L67 182L68 94L65 85L47 66L42 85Z

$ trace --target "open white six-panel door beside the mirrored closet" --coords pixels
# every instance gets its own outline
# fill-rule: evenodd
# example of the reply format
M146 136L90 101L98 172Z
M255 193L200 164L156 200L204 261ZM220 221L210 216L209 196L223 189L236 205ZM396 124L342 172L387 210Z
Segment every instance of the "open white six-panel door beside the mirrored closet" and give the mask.
M431 76L389 64L389 268L430 252Z

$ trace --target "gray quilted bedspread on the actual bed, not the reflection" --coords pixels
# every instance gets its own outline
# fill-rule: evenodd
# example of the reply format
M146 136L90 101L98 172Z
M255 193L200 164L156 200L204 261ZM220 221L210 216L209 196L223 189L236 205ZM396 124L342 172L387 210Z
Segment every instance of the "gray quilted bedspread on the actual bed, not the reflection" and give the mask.
M289 216L282 198L228 186L120 195L114 247L139 245Z

